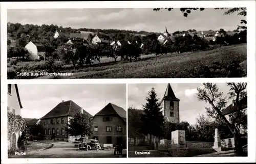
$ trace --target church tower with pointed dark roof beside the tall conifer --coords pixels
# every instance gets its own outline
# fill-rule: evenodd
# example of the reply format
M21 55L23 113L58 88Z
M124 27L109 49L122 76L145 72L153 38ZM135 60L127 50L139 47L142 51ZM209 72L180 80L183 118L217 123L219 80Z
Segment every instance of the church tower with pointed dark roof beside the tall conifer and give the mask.
M164 96L161 100L162 113L164 118L169 122L178 123L180 122L180 99L178 99L170 84L167 85Z

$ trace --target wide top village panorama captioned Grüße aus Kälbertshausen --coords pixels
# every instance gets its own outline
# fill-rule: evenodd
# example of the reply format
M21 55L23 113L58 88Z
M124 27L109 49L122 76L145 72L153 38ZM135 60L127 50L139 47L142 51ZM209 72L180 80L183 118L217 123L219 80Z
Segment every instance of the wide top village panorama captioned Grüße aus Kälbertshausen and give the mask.
M247 76L246 8L8 9L8 79Z

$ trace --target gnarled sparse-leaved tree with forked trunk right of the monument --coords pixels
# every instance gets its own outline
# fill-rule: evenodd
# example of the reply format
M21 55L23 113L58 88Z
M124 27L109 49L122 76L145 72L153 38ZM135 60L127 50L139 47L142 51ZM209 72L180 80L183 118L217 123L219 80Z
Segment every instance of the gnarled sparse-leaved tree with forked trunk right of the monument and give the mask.
M242 103L240 100L247 95L246 86L247 83L227 83L229 89L228 99L233 99L234 105L237 106L237 111L234 113L234 117L231 122L221 113L227 104L227 98L223 97L223 92L219 92L219 88L216 84L204 83L204 88L197 88L197 97L200 101L206 101L211 107L205 107L206 113L210 117L216 118L216 120L223 122L229 128L234 138L235 155L244 156L243 148L240 142L240 130L239 121L242 116Z

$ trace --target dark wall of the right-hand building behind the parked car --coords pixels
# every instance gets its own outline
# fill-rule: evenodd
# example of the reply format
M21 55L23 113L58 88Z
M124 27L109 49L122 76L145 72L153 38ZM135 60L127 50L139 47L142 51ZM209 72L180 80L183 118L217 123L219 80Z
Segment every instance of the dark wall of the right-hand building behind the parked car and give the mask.
M98 126L98 131L93 131L92 139L97 136L100 144L106 144L106 136L112 136L112 144L115 146L117 137L121 136L123 145L126 145L126 122L116 115L111 116L113 118L112 121L103 122L103 117L106 117L106 115L94 117L93 129ZM111 126L111 132L106 131L107 126ZM117 126L122 126L121 132L117 131Z

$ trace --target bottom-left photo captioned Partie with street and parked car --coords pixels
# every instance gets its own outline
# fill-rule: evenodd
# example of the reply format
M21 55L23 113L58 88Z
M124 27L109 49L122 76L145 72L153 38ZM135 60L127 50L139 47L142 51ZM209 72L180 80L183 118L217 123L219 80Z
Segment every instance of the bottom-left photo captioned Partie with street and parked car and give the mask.
M8 158L126 157L126 84L9 84L7 110Z

